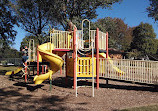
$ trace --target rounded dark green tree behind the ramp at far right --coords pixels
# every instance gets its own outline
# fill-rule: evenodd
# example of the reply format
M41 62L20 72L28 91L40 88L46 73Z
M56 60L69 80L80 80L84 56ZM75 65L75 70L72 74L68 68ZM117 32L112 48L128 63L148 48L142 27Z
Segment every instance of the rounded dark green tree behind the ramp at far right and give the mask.
M141 55L156 54L157 41L152 25L141 22L133 30L133 37L133 42L131 43L132 49L137 49L141 52Z

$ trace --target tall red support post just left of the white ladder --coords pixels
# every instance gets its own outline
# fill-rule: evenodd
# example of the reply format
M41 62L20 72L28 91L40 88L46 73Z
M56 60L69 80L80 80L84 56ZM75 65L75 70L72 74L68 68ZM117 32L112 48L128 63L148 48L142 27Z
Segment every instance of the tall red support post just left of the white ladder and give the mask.
M76 89L76 28L73 31L74 89Z

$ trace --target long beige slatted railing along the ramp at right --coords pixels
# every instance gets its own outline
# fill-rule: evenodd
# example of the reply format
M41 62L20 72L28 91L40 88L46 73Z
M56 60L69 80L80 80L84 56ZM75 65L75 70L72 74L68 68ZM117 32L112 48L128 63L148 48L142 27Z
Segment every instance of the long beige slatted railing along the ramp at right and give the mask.
M147 84L158 83L158 61L100 58L100 77Z

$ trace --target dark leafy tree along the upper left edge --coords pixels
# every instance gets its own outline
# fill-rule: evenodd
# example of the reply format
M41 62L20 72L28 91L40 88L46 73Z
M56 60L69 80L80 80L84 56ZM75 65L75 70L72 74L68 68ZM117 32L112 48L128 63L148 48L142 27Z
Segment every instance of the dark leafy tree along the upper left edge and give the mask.
M4 49L12 45L17 32L14 25L18 25L17 18L10 8L9 0L0 1L0 45ZM4 51L4 50L2 50Z

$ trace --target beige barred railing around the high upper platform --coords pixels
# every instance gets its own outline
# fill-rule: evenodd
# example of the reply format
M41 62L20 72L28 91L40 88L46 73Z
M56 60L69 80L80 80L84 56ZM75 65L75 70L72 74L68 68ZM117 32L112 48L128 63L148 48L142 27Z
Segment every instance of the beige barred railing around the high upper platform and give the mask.
M90 30L89 38L82 36L82 30L76 31L77 49L91 49L92 40L95 43L96 30ZM54 30L50 33L50 41L56 49L73 49L73 33L69 31ZM95 44L93 45L95 48ZM106 50L106 33L99 31L99 49Z

